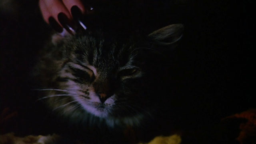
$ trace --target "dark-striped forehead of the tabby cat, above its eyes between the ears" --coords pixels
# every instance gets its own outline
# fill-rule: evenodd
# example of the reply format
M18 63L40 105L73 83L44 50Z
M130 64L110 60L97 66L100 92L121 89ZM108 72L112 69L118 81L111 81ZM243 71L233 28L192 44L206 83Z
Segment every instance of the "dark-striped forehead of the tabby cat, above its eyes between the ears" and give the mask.
M132 64L133 50L134 46L126 42L87 36L78 40L74 54L80 62L106 71Z

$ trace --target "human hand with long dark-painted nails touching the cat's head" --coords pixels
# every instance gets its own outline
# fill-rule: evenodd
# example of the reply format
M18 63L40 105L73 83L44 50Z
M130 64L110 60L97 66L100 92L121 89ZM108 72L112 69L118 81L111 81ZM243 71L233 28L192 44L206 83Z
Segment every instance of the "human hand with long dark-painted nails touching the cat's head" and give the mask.
M57 32L65 28L70 34L75 33L74 21L84 29L82 15L92 8L84 6L81 0L39 0L39 7L44 20Z

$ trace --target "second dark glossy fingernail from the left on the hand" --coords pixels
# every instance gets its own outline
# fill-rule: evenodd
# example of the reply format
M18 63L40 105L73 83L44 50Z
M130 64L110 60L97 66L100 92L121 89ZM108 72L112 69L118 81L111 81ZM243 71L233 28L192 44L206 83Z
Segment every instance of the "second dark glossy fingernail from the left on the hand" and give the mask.
M75 30L73 28L72 22L68 19L66 14L63 12L58 14L58 20L60 24L70 33L70 34L75 34Z

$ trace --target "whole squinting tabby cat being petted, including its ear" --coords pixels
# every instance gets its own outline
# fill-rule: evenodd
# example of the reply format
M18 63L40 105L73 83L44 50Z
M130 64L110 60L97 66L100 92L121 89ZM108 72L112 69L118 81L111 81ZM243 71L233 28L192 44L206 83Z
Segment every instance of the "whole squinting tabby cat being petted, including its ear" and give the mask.
M39 100L59 120L83 130L150 124L168 100L168 53L183 29L172 24L129 38L86 30L55 38L34 70Z

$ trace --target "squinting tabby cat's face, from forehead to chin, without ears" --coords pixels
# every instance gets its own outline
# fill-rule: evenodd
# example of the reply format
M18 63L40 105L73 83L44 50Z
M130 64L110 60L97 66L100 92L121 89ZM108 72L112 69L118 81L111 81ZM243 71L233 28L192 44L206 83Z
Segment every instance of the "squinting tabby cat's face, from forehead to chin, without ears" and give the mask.
M64 81L59 86L72 90L69 94L86 112L100 118L122 117L134 99L139 99L136 89L144 72L135 48L105 46L103 40L82 36L68 49L71 51L65 54L66 63L59 73Z

